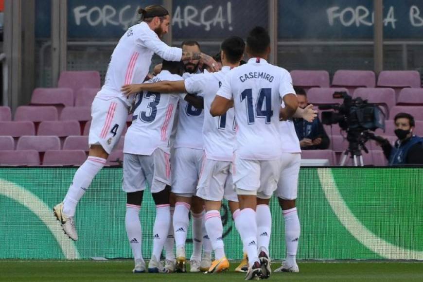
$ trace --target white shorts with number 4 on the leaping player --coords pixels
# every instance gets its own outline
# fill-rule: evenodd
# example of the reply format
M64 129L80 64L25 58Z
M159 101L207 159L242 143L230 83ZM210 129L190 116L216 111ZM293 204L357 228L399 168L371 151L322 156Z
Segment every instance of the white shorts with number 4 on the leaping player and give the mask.
M91 106L88 144L101 145L110 155L119 142L128 117L128 107L119 98L94 98Z

